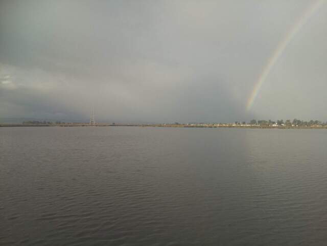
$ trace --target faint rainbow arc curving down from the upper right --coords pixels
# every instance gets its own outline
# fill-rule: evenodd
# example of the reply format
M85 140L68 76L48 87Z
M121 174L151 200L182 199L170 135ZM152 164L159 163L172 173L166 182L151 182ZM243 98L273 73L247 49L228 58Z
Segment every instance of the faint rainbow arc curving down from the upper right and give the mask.
M263 85L263 83L266 81L267 76L269 75L271 69L275 65L278 58L283 54L285 48L288 46L288 44L291 42L291 40L294 38L294 36L301 30L303 26L306 25L310 17L324 4L325 0L318 0L314 2L312 5L309 6L309 8L301 15L298 21L296 21L293 28L290 30L290 32L285 35L285 37L278 43L278 46L268 59L267 64L265 65L264 69L262 70L258 81L256 81L252 93L247 101L246 109L250 110L255 98L258 96L260 89Z

